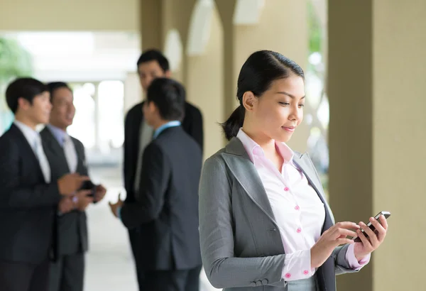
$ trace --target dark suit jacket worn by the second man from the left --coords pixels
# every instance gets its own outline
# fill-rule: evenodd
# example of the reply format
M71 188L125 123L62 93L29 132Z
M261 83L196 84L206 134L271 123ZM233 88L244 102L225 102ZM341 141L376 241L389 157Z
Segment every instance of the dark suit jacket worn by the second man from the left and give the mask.
M52 131L45 127L40 132L40 136L45 144L45 154L50 163L52 181L69 174L70 168L68 167L67 158L65 158L65 152L58 140L53 136ZM77 138L71 137L71 140L74 143L78 158L76 172L80 175L87 175L84 146ZM85 212L73 210L67 214L57 216L56 227L55 239L59 256L87 251L87 218Z

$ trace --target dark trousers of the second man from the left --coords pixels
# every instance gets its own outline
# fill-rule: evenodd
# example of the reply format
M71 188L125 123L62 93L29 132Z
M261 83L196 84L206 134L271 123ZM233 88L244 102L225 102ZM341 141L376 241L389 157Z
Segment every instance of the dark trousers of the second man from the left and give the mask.
M84 253L60 256L50 263L49 291L83 291Z

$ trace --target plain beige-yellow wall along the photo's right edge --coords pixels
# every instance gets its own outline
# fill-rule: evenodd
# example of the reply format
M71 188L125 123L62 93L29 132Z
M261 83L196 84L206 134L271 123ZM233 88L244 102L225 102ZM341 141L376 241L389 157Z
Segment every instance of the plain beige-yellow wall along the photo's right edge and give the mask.
M373 211L390 210L373 290L425 290L426 1L373 1Z

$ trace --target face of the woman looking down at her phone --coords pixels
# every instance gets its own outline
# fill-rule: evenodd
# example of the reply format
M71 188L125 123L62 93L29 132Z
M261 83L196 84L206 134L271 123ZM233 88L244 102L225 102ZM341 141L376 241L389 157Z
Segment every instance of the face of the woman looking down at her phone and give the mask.
M275 141L289 141L303 119L305 82L302 77L291 75L275 80L260 98L253 98L246 117L252 119L256 132Z

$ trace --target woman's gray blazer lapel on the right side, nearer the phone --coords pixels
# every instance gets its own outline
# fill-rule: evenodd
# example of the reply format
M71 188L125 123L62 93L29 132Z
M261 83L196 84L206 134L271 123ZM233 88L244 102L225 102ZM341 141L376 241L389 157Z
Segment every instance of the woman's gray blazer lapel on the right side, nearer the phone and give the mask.
M324 204L325 208L325 221L324 221L324 230L329 229L334 224L334 217L332 214L332 210L329 207L329 204L327 203L327 200L325 199L324 190L322 190L321 181L317 177L317 173L315 172L314 165L312 164L309 155L307 153L305 154L299 154L295 153L293 157L293 161L295 164L302 170L302 172L305 174L305 177L309 181L312 188L314 188L315 192L317 192L318 196L320 197L322 203Z

